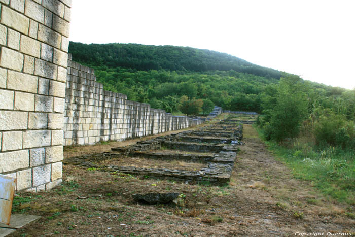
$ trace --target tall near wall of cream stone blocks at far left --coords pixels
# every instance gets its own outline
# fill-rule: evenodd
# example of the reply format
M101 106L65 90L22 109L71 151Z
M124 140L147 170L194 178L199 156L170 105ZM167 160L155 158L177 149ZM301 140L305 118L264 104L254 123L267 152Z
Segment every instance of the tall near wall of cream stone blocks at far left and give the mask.
M71 0L0 0L0 174L61 182Z

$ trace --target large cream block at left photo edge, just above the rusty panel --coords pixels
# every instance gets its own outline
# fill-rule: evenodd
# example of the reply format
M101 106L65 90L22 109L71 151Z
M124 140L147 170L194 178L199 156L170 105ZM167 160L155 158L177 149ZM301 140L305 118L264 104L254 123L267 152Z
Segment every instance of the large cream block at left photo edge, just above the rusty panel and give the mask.
M28 150L0 153L0 173L29 166Z

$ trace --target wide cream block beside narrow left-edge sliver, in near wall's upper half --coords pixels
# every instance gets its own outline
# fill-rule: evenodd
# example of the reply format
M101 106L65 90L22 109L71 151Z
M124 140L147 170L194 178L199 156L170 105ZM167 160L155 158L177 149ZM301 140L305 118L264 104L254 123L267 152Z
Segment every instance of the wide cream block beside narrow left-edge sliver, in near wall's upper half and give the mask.
M37 93L38 77L9 70L7 81L8 89Z

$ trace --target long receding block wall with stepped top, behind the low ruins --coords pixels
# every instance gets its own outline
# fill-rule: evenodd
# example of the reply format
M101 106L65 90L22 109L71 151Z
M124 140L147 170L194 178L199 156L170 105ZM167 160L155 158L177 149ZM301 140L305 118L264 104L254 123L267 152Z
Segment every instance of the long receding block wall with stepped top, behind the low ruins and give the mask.
M202 119L171 116L127 95L103 90L94 70L71 60L65 95L64 146L122 141L202 123Z

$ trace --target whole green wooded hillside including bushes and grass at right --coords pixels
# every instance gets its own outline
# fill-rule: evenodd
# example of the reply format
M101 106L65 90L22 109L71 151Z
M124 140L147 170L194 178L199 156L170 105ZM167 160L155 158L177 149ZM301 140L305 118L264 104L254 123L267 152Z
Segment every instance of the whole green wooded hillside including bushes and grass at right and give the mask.
M105 90L152 108L202 115L217 105L259 113L261 136L297 177L355 203L354 90L189 47L70 42L69 53L95 69Z

